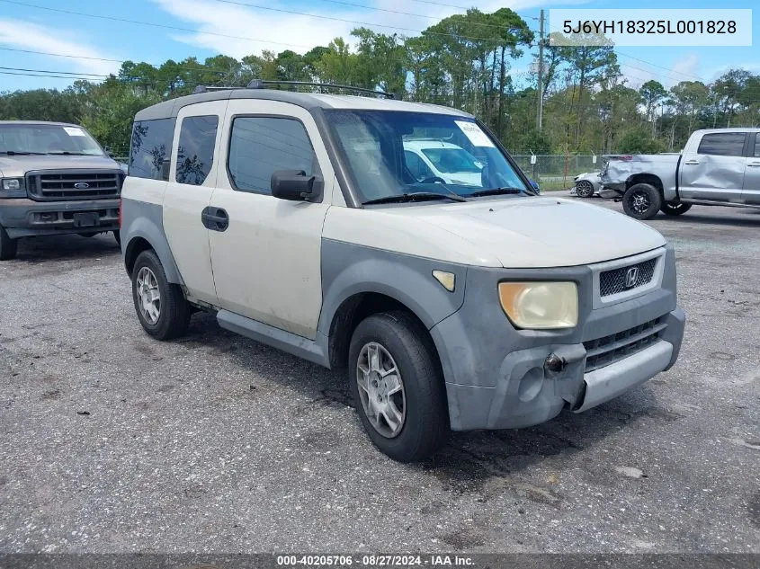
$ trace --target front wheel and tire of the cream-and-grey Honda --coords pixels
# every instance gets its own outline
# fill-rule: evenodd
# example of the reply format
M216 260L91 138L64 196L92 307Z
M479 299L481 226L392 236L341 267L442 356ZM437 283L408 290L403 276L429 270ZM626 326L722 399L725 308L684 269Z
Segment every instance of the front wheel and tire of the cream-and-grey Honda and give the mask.
M373 347L380 356L376 366L368 358ZM392 368L396 374L378 373ZM399 462L413 462L443 446L450 434L443 371L433 342L412 316L399 311L362 320L353 332L348 369L356 413L378 449ZM400 420L392 426L388 416Z

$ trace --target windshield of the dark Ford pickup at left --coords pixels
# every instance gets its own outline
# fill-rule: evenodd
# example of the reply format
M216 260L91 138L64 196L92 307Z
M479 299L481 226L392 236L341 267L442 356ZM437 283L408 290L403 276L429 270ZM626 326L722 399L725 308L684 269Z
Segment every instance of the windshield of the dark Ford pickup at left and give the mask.
M85 129L55 124L0 124L0 154L103 156Z

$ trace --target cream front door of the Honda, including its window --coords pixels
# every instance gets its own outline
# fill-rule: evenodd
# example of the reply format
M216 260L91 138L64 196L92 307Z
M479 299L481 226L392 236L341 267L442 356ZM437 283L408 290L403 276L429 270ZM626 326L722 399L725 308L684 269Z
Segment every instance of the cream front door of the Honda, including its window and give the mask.
M210 207L228 215L210 231L219 306L308 339L317 335L322 305L322 227L335 174L317 125L286 102L230 100L217 189ZM280 200L277 170L321 175L323 198Z

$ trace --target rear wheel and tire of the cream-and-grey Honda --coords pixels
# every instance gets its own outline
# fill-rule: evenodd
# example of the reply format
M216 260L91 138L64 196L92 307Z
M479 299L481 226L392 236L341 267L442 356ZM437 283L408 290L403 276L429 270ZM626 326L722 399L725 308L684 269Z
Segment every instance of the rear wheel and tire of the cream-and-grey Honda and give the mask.
M135 261L132 299L140 324L156 340L172 340L187 332L190 305L182 289L166 280L164 267L152 250L139 253Z

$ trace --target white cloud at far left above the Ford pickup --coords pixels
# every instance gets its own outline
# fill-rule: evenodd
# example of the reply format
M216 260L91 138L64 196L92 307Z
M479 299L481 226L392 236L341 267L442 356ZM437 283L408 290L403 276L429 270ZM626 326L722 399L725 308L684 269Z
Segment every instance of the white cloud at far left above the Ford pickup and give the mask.
M84 58L108 58L100 49L81 43L74 39L67 40L66 31L18 20L0 19L0 45L15 49L47 51L49 53L67 54ZM45 57L45 56L40 56ZM93 73L107 75L118 71L121 64L114 61L97 59L56 58L47 56L55 65L49 68L75 73ZM21 66L24 67L24 66Z

